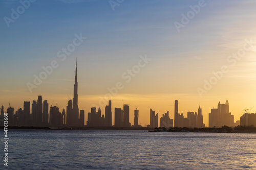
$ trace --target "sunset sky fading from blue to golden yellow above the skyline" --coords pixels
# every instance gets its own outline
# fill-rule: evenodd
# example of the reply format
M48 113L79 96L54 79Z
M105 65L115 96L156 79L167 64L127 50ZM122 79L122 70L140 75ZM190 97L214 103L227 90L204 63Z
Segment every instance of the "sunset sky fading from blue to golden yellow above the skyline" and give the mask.
M86 113L100 107L104 114L111 95L113 115L115 107L130 104L132 125L137 108L145 126L151 108L159 120L167 111L174 118L178 100L185 117L200 105L208 126L210 109L228 99L239 120L244 109L256 112L255 5L252 0L3 0L0 104L7 110L10 102L18 110L42 95L50 106L66 109L77 59L78 106ZM35 84L40 76L44 80Z

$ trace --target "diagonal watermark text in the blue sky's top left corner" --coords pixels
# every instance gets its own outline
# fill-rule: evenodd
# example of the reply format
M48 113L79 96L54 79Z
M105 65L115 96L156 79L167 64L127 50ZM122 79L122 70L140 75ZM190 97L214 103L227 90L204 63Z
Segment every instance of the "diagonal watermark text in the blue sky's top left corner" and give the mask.
M13 8L11 9L10 17L4 17L6 26L9 28L10 23L15 22L15 20L17 20L20 17L20 15L22 15L31 6L31 3L34 3L35 1L36 0L20 0L20 5L16 8L16 10Z

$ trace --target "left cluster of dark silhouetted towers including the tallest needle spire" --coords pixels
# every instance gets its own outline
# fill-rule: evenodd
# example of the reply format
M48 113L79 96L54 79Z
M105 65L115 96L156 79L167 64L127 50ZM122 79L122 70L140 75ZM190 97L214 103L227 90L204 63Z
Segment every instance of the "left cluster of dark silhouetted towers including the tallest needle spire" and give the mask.
M7 109L8 124L9 126L34 126L34 127L78 127L84 125L84 111L80 110L80 117L78 114L78 94L77 94L77 64L75 73L74 84L74 98L73 101L68 101L67 106L67 122L65 109L60 113L57 106L51 106L49 111L48 101L42 101L42 96L39 95L37 101L33 101L31 105L30 114L30 102L24 102L24 110L19 108L14 113L14 108L9 105ZM73 103L73 104L72 104ZM2 106L1 113L4 115L4 106ZM1 114L2 115L2 114ZM1 116L3 117L3 116ZM2 121L0 121L0 124Z

